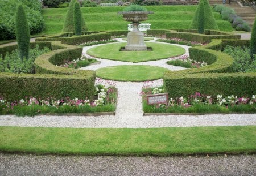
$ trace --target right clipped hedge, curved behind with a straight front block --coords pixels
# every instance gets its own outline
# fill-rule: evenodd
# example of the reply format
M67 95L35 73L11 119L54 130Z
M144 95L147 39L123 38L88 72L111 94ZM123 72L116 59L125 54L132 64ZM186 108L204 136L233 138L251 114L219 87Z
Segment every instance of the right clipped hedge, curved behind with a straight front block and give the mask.
M172 98L195 92L207 95L251 96L256 94L256 73L232 73L233 58L221 52L226 45L247 45L249 40L212 40L205 46L189 48L192 59L210 63L205 67L169 71L164 74L164 88Z

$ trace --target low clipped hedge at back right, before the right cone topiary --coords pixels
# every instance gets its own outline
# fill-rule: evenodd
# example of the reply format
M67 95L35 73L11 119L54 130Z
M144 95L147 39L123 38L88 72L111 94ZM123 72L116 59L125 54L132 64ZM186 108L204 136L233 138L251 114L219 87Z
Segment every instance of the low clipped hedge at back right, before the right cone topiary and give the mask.
M166 32L166 38L180 38L187 41L196 41L200 43L210 42L212 39L240 39L241 35L204 35L189 32Z

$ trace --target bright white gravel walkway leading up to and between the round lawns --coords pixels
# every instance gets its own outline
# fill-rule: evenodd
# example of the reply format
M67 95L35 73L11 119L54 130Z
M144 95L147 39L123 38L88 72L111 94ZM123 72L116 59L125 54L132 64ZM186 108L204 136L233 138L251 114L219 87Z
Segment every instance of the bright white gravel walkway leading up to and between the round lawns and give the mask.
M84 53L89 47L84 48ZM186 48L188 51L188 48ZM99 65L92 65L85 69L97 70L101 67L114 65L158 65L169 70L181 70L182 67L168 67L165 62L150 61L143 63L127 63L98 59ZM210 115L160 115L143 116L142 87L159 87L163 80L146 83L117 82L96 79L96 84L115 85L118 88L118 102L116 115L100 117L81 116L36 116L15 117L14 115L0 116L0 126L20 127L73 127L73 128L152 128L152 127L194 127L194 126L246 126L256 125L256 114L210 114Z

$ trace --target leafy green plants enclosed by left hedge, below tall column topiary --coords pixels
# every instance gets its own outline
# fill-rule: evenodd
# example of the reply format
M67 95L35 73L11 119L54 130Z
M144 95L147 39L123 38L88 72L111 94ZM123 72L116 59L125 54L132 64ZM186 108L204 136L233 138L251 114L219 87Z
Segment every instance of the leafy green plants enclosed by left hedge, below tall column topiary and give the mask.
M21 59L18 50L13 50L11 54L7 53L4 58L0 57L0 72L35 73L35 58L49 51L48 48L40 50L39 45L36 45L36 48L30 49L30 58Z

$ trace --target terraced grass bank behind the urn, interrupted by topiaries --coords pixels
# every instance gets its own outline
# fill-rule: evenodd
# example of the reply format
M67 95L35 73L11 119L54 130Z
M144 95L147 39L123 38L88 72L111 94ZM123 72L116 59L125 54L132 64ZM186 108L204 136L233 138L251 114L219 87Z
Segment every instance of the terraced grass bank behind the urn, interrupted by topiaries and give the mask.
M127 30L127 24L122 15L117 15L125 7L82 7L85 23L89 31ZM154 11L148 15L148 20L143 23L150 23L151 29L187 29L196 6L146 6L147 10ZM42 34L60 33L63 28L67 8L43 9L42 14L46 23L46 29ZM234 31L231 24L221 19L221 15L214 12L221 31Z

